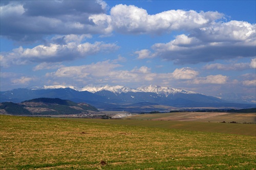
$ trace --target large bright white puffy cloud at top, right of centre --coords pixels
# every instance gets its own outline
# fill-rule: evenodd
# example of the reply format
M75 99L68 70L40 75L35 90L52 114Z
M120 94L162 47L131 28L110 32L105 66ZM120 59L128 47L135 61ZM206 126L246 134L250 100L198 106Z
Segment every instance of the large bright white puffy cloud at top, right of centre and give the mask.
M223 17L218 12L196 12L194 10L169 10L149 15L145 9L134 5L116 5L110 15L95 14L90 19L101 28L123 34L162 34L174 30L191 30L207 26Z

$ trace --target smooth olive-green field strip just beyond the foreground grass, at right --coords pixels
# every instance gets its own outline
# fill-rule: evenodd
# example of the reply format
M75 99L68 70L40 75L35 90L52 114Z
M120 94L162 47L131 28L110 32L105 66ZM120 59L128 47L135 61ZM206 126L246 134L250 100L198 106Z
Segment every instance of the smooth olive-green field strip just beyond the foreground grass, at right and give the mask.
M163 121L163 120L137 120L137 119L81 119L74 118L77 121L98 122L114 125L126 126L143 126L151 128L177 129L187 131L201 132L217 132L225 134L238 134L256 136L255 124L224 124L224 123L208 123L208 122L180 122L180 121Z

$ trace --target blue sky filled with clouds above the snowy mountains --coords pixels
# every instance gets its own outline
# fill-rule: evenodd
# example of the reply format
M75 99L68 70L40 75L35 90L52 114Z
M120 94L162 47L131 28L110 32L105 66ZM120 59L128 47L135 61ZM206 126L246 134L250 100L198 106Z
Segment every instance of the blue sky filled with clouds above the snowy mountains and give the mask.
M182 88L256 102L255 1L1 1L1 91Z

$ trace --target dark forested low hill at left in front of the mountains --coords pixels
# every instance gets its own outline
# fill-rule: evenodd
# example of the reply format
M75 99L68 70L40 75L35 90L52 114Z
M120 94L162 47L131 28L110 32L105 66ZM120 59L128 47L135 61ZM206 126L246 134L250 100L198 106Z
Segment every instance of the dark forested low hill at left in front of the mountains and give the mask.
M12 102L0 104L0 113L12 115L84 115L92 112L98 112L98 109L86 103L75 103L58 98L38 98L18 104Z

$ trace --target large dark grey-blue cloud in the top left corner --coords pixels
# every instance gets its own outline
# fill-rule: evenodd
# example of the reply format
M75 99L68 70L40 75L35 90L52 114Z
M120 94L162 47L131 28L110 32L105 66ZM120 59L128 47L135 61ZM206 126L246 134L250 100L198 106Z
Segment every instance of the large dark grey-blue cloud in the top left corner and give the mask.
M89 16L104 13L105 8L102 1L1 3L1 35L30 42L44 35L99 33Z

